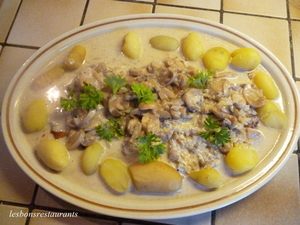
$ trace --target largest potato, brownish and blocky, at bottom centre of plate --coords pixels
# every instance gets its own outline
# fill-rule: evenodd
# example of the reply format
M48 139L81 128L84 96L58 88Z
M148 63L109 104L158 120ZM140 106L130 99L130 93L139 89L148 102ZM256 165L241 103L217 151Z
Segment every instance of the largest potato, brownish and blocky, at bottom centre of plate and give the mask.
M172 166L154 161L128 167L135 188L142 192L171 193L181 189L182 177Z

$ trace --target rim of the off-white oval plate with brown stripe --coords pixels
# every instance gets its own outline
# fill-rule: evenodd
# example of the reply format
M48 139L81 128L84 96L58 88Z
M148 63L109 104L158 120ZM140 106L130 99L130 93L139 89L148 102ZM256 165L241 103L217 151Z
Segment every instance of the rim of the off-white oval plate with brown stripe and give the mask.
M257 49L262 65L273 75L278 84L285 113L287 128L276 145L259 165L250 172L232 179L226 185L211 192L170 195L113 195L97 193L81 186L81 182L65 179L59 173L51 173L37 162L25 135L20 128L17 111L18 101L32 74L51 62L66 47L113 30L135 27L174 27L207 33L240 47ZM268 182L285 164L294 150L299 136L299 96L295 82L279 60L266 48L250 37L222 24L199 18L142 14L103 20L79 27L46 44L20 68L5 95L2 108L2 127L11 155L19 166L41 187L76 206L112 216L137 219L162 219L195 215L236 202L253 193Z

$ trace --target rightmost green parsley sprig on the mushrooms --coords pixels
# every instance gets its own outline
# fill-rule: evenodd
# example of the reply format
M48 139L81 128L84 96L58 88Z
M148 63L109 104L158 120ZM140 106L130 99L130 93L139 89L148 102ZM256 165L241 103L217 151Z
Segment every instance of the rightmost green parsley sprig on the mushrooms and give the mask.
M212 115L205 119L203 126L207 128L207 131L200 132L200 136L213 145L224 145L231 141L229 129L220 126L220 122L215 120Z

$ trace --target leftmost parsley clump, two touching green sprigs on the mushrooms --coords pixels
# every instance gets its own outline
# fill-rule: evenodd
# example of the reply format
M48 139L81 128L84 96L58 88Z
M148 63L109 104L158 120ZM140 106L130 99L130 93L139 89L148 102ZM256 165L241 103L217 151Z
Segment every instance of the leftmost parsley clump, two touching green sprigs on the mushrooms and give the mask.
M83 92L76 96L74 88L71 87L68 93L68 98L60 98L60 105L65 110L75 108L96 109L103 98L103 93L97 91L93 85L87 84L83 87Z

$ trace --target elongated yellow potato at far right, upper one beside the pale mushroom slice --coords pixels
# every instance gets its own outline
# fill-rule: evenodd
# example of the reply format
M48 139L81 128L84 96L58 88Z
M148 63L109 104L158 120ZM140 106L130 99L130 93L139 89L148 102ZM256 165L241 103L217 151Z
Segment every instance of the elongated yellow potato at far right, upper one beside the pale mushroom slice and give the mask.
M262 90L267 99L275 99L279 96L279 90L272 77L266 73L259 72L254 74L254 84Z

